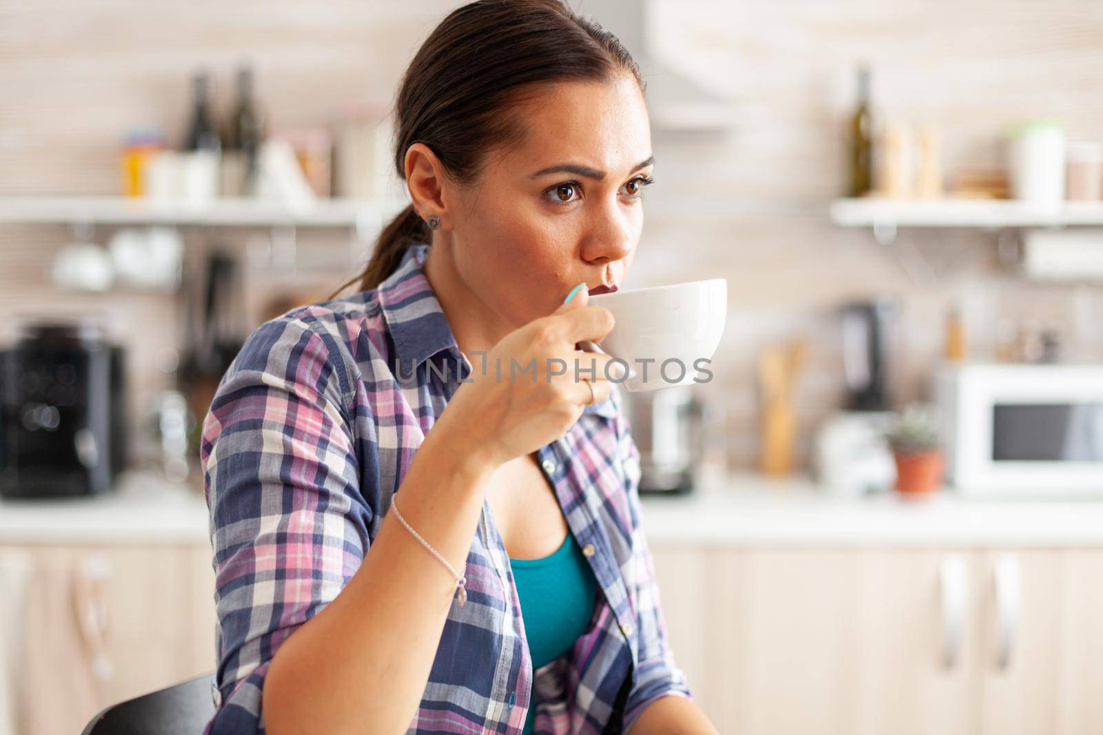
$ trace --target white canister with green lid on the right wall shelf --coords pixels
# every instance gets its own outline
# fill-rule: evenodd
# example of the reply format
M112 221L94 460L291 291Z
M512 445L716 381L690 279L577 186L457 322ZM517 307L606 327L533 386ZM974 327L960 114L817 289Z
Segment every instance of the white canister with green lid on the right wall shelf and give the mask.
M1025 120L1009 132L1011 196L1035 204L1064 201L1064 129L1056 120Z

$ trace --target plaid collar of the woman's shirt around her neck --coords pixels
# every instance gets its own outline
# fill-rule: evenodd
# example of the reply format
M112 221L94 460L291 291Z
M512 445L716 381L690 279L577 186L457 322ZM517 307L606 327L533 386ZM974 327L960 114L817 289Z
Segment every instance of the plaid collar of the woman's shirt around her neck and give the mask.
M441 350L448 350L460 363L471 361L456 344L445 311L425 274L429 245L416 242L403 253L394 273L376 289L379 307L395 343L400 375L411 375L418 366ZM619 389L614 386L614 393ZM587 406L582 413L597 413L607 419L617 415L613 398Z

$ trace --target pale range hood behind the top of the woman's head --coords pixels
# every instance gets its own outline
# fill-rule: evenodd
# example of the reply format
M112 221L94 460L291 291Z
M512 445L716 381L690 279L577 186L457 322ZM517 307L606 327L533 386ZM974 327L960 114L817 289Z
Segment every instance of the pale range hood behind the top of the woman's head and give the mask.
M575 12L589 15L613 33L640 65L647 85L652 128L670 131L724 131L733 105L657 61L647 42L649 0L579 0Z

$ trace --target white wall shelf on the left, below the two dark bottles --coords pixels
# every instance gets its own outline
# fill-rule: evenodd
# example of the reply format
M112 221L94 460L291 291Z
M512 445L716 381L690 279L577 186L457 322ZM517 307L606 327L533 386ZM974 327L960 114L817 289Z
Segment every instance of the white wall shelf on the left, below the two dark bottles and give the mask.
M376 229L405 205L351 198L288 205L248 198L193 204L125 196L7 196L0 197L0 223Z

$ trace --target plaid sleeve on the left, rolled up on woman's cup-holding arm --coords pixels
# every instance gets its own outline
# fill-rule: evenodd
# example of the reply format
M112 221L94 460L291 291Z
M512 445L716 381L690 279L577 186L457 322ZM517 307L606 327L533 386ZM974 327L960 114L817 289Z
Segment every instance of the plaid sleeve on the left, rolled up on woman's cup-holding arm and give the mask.
M272 657L367 553L372 510L346 410L350 376L335 352L300 318L261 325L204 421L218 660L218 710L205 733L264 732Z

